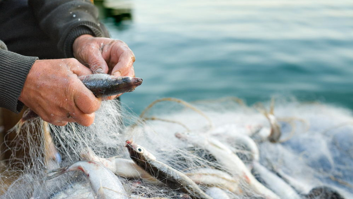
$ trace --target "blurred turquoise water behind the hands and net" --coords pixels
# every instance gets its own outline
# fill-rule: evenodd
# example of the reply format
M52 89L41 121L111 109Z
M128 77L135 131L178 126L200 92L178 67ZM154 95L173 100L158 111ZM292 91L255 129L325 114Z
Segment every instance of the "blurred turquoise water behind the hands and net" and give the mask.
M273 95L353 108L352 0L132 0L132 19L104 23L136 55L143 84L122 95L151 101Z

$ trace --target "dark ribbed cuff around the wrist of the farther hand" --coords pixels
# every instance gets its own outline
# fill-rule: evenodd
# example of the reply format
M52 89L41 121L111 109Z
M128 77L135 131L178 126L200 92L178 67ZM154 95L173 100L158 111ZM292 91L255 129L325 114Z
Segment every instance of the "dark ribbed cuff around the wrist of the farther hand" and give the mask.
M102 26L102 27L100 27ZM109 37L105 27L102 24L96 24L90 21L83 21L71 28L65 40L60 40L58 43L59 49L64 49L66 58L73 57L72 45L75 39L81 35L89 34L95 37Z

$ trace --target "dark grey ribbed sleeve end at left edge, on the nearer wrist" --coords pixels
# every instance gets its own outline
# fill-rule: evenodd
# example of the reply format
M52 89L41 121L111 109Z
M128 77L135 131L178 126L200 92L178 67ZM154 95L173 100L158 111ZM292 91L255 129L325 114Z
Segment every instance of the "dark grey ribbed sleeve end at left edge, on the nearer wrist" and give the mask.
M0 40L0 107L19 113L23 103L18 100L26 77L37 60L7 50Z

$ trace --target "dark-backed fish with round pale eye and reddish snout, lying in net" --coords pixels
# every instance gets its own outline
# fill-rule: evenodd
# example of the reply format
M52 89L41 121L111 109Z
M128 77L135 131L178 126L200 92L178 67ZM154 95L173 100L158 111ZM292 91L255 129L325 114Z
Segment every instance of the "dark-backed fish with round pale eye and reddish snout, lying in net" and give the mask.
M156 160L155 156L146 151L143 147L133 143L130 140L126 141L126 147L131 159L137 165L160 180L167 187L172 189L179 189L180 191L190 194L195 199L212 199L184 173L172 168L167 164L159 162Z

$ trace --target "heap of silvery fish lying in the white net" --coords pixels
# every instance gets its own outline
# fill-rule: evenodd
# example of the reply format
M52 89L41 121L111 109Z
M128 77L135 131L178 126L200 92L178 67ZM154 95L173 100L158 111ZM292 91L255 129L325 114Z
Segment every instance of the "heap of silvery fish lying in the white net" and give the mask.
M309 185L286 174L274 164L262 164L259 146L282 146L288 141L281 141L282 125L274 115L273 104L269 112L259 107L257 109L261 110L268 119L269 128L248 126L247 133L230 134L224 132L231 129L228 124L213 127L212 130L205 130L206 132L190 130L175 132L174 137L185 148L179 148L180 151L175 153L173 158L163 158L158 154L158 152L166 153L170 156L168 150L163 151L160 148L165 145L152 147L157 148L155 154L133 140L125 141L125 152L130 159L121 158L121 156L102 158L98 157L91 148L85 148L80 153L82 160L65 168L51 170L46 179L52 179L65 172L80 170L86 176L89 185L70 185L72 189L80 189L80 191L74 192L68 191L67 187L61 188L50 198L156 198L153 193L141 191L143 187L149 186L155 188L155 193L159 193L156 194L157 196L171 199L346 198L339 191L341 189L335 185L330 186L325 183ZM305 125L307 124L303 124ZM163 136L163 134L158 135ZM143 137L136 137L136 139ZM151 142L158 145L158 142L147 142L150 142L149 146ZM175 143L169 144L173 150L181 146ZM189 161L198 159L203 164L188 163L190 157L187 156L192 156ZM171 162L171 159L174 162ZM263 162L266 161L270 160ZM124 187L123 184L130 187ZM67 195L67 193L72 194Z

